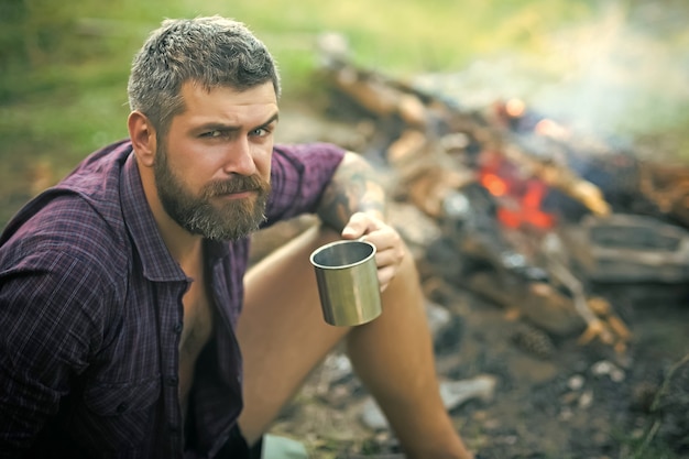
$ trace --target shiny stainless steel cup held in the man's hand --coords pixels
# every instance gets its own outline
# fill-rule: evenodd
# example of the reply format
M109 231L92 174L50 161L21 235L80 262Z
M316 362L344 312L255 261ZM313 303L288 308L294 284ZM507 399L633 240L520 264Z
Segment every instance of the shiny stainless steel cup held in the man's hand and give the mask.
M310 255L325 320L354 326L376 318L382 310L375 266L375 245L342 240L316 249Z

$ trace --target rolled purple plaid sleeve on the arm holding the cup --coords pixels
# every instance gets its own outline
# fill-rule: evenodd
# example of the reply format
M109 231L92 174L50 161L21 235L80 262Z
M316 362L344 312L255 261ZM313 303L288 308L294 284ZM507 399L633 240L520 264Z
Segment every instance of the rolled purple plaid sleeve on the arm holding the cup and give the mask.
M344 150L329 143L276 145L271 168L272 193L266 208L266 226L314 212L343 157Z

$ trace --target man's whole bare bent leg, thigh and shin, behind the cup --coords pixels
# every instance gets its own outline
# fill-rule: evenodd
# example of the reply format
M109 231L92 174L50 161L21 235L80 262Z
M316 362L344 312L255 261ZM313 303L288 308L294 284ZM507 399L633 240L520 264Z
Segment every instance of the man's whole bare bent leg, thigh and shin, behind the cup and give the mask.
M247 275L238 325L244 356L240 426L255 441L308 373L347 337L352 364L408 458L471 458L438 393L424 300L411 255L383 294L383 314L354 328L327 325L308 254L332 231L311 229Z

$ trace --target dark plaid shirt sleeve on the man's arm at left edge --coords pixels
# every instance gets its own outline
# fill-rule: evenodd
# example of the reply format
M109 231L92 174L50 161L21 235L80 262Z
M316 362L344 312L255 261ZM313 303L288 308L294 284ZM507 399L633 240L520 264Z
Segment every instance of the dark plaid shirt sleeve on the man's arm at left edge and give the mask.
M53 228L63 231L22 231L0 249L2 457L30 447L102 345L111 283L99 274L101 253L75 250L79 226Z

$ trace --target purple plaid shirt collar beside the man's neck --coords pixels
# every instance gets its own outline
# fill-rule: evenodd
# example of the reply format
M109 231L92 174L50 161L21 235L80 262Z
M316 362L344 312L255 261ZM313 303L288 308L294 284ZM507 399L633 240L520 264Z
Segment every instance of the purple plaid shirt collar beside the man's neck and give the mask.
M122 167L120 196L124 222L141 255L144 277L154 282L186 281L153 219L133 152Z

